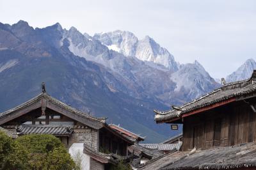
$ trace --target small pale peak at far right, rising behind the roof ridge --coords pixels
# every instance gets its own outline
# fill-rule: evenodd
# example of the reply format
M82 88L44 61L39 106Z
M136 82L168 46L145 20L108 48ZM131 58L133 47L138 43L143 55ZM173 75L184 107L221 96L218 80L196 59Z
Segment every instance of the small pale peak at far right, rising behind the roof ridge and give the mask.
M251 77L253 70L256 70L256 62L253 59L247 59L245 63L236 72L227 76L227 82L242 81Z

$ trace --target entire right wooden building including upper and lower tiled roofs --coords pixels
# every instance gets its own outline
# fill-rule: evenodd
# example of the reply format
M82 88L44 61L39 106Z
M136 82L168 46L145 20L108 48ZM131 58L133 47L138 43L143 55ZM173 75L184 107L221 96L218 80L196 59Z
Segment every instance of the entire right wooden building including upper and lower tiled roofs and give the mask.
M256 70L192 102L156 111L157 123L183 124L182 151L139 169L256 169Z

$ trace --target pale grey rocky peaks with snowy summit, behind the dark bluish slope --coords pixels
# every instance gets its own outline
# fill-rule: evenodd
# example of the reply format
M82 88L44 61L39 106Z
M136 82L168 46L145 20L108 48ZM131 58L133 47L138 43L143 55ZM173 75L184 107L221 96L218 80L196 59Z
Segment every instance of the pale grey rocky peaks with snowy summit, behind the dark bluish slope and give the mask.
M91 38L71 27L69 30L64 29L61 41L65 40L68 41L70 52L76 56L104 65L115 73L124 86L109 81L111 87L117 91L126 91L132 97L156 97L164 104L169 104L171 98L180 98L177 94L186 94L179 102L173 101L179 104L218 86L197 61L180 65L168 50L160 47L149 36L138 41L128 31L114 31ZM168 69L167 65L172 66Z

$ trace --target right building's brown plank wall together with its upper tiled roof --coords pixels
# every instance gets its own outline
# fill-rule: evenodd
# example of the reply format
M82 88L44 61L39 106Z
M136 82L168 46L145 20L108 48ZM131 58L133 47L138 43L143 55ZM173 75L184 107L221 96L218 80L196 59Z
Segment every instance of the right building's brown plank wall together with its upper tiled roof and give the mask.
M182 123L182 150L256 142L256 71L193 102L155 111L157 123Z

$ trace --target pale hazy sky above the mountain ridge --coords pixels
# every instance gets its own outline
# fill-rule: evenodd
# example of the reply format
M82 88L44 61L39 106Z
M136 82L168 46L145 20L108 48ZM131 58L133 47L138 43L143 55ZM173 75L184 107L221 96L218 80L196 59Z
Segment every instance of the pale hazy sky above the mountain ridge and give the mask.
M0 22L33 27L60 22L82 33L131 31L148 35L176 61L198 60L212 77L225 77L256 59L256 1L12 1L0 0Z

